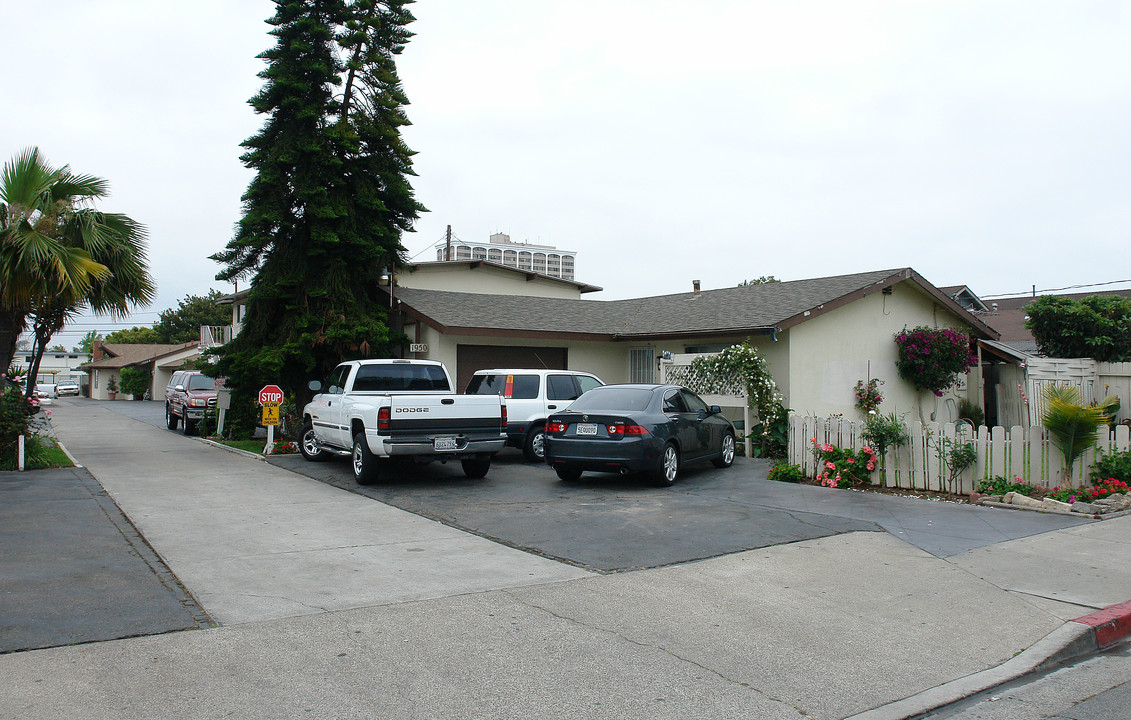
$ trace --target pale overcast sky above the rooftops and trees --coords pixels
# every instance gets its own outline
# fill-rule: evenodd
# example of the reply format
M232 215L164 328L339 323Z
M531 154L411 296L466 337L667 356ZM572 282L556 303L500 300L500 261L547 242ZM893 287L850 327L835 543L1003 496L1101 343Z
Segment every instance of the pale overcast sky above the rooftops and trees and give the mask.
M0 157L105 177L152 322L215 280L265 0L0 0ZM1131 5L420 0L399 62L431 211L403 243L578 252L589 298L912 267L988 297L1131 279ZM1129 284L1115 285L1126 287ZM1104 289L1108 286L1098 287ZM109 321L60 336L67 347Z

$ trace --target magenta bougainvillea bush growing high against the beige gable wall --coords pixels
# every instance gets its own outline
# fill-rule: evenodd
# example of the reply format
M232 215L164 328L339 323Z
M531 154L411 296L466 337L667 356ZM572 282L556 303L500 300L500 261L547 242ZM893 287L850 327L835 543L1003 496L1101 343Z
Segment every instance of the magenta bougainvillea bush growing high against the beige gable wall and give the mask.
M936 396L955 384L958 373L968 373L978 364L970 337L950 328L920 326L896 333L899 376L920 390Z

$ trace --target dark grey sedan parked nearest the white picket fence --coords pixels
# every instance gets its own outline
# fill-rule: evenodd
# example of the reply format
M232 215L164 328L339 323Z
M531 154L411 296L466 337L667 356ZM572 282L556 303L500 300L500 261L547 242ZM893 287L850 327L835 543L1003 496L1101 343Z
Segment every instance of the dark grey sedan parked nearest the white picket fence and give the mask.
M594 388L546 420L546 462L563 480L585 470L645 472L671 485L688 462L734 462L734 425L679 385Z

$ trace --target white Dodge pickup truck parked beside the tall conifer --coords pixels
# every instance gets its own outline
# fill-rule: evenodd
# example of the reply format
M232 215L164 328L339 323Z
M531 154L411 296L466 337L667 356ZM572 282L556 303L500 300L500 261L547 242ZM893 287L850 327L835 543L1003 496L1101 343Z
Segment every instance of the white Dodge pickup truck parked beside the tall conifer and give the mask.
M481 478L507 444L507 402L494 394L456 394L444 366L423 359L349 361L302 410L307 460L352 456L361 485L377 482L389 458L460 460Z

